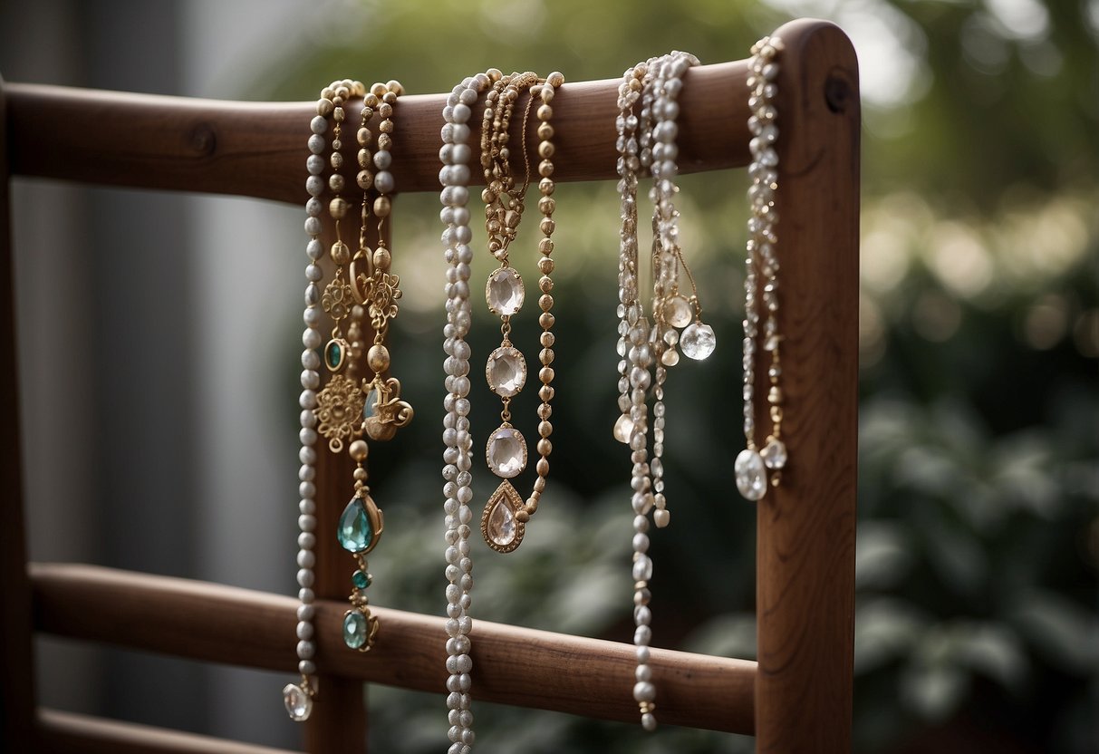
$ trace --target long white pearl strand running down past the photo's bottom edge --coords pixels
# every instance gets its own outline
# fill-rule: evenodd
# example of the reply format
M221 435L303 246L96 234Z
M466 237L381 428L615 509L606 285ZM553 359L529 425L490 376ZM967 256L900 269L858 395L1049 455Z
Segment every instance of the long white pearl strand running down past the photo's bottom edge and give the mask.
M469 431L469 118L471 107L491 80L486 74L466 78L454 88L443 108L443 146L439 156L443 163L439 178L443 186L440 219L446 225L443 244L446 248L446 325L443 329L443 363L446 373L446 398L443 407L443 495L446 499L446 706L451 740L448 754L469 754L474 743L474 716L469 689L473 659L469 656L469 632L473 619L469 591L473 589L473 561L469 556L469 523L473 511L470 487L473 475L473 435Z

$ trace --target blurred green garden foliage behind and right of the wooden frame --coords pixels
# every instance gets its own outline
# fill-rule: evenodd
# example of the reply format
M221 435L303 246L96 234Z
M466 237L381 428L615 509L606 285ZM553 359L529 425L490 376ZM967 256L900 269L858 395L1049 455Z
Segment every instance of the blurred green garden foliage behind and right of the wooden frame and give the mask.
M279 51L271 89L252 93L307 99L346 76L446 91L489 66L612 78L673 48L706 63L744 57L793 15L846 29L866 119L856 750L1097 750L1096 0L403 0L341 10L308 45ZM657 643L751 657L754 512L728 478L745 186L736 173L682 180L685 246L719 351L670 377L674 525L653 550ZM473 612L629 641L629 463L610 435L617 195L570 185L557 197L552 481L520 553L479 553ZM437 200L402 197L397 219L407 298L395 374L418 418L399 443L371 452L391 532L375 558L374 599L441 612ZM522 326L517 342L533 340ZM479 313L475 352L491 347L495 331ZM533 415L532 398L517 401L520 421ZM476 401L476 431L493 423L491 403L487 393ZM487 475L477 484L484 498ZM442 694L370 692L379 751L439 750ZM646 736L489 705L476 713L497 751L752 749L699 731Z

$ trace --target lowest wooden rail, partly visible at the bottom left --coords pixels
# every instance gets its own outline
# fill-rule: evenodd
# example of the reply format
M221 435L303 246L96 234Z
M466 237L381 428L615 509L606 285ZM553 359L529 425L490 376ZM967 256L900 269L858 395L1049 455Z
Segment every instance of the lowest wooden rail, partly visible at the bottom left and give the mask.
M282 749L51 709L38 711L36 733L37 747L33 751L37 754L291 754Z

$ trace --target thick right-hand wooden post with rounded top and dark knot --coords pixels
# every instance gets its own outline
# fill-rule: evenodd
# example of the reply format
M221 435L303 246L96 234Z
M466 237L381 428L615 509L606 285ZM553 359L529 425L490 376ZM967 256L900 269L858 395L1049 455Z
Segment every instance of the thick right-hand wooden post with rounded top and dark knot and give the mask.
M778 30L782 434L758 503L756 751L851 750L858 381L858 71L837 27ZM757 414L766 415L759 369Z

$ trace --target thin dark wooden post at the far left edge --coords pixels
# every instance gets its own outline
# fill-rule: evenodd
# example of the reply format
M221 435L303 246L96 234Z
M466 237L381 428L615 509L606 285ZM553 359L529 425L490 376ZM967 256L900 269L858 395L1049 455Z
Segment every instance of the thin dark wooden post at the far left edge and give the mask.
M23 443L19 417L19 361L15 337L15 270L11 239L8 173L7 98L0 79L0 741L4 751L30 751L34 728L34 646L31 639L31 583L26 575L26 525L23 514Z

